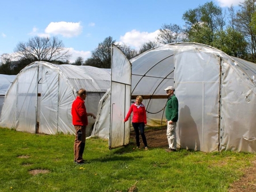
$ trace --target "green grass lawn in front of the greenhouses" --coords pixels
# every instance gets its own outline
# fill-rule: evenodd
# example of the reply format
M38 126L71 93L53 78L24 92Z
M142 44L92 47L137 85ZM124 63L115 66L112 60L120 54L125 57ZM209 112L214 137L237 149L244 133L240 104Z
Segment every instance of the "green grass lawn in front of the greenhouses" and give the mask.
M84 159L73 162L74 135L0 129L0 191L227 191L255 158L250 153L203 153L162 148L109 150L86 140ZM167 139L166 139L167 145ZM27 157L27 158L20 158ZM31 175L31 170L49 173Z

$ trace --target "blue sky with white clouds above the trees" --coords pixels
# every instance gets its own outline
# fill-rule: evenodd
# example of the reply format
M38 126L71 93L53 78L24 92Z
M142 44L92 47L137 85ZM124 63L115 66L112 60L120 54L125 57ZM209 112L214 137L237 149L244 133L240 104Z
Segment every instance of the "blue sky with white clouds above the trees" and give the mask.
M244 0L213 0L221 7ZM73 56L86 60L100 42L111 36L134 49L166 24L183 26L182 14L204 0L2 0L0 55L13 53L19 42L34 36L57 36Z

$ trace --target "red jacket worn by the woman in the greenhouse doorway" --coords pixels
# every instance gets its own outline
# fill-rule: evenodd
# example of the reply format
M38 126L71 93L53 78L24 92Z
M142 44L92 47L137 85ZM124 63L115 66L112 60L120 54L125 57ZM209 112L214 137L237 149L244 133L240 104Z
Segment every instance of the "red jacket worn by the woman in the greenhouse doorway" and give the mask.
M147 124L147 116L145 106L141 103L141 107L137 108L136 103L132 104L124 121L128 121L131 113L133 112L132 122L133 123L142 123Z

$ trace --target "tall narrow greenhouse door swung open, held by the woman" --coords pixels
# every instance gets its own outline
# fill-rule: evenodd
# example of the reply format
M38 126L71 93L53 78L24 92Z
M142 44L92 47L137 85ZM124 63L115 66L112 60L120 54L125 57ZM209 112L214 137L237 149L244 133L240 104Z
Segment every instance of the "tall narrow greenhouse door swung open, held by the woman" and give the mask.
M131 105L131 63L115 45L111 49L109 149L130 141L130 123L123 123Z

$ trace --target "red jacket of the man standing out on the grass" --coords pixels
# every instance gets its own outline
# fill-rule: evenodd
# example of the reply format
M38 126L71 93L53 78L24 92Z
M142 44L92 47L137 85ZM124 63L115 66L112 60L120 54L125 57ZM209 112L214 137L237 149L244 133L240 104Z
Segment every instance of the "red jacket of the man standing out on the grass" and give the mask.
M75 101L72 103L71 115L72 115L73 125L78 125L78 126L88 125L86 108L84 105L84 100L81 97L77 96Z

